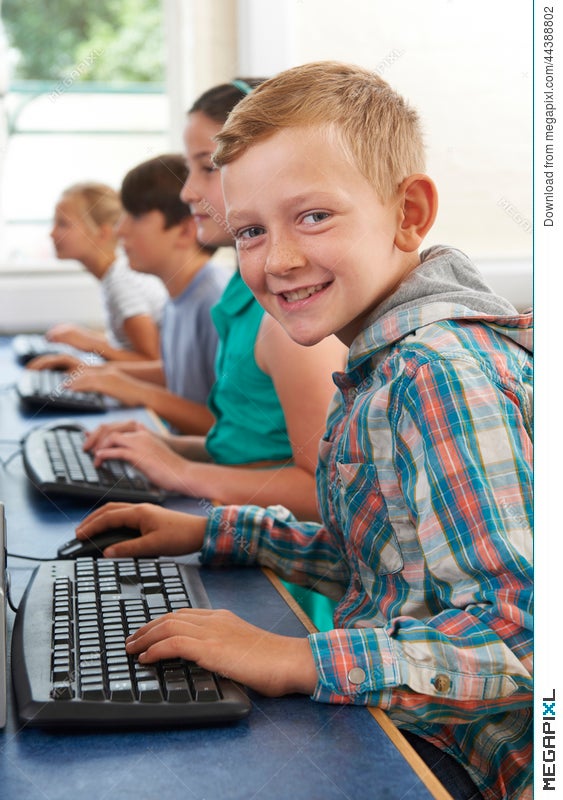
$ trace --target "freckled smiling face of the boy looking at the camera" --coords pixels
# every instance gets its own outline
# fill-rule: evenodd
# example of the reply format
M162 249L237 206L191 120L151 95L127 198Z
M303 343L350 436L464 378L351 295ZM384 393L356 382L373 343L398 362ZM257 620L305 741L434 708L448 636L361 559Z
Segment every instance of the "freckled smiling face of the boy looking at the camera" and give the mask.
M301 344L347 345L412 269L382 203L340 145L311 129L274 134L222 169L242 276Z

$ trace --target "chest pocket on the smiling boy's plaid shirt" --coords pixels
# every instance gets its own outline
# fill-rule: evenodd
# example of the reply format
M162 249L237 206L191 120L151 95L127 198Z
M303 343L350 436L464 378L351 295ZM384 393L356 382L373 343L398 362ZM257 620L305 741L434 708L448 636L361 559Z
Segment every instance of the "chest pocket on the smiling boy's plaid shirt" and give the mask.
M374 464L339 463L339 503L346 544L367 588L377 575L403 569L403 555L389 520Z

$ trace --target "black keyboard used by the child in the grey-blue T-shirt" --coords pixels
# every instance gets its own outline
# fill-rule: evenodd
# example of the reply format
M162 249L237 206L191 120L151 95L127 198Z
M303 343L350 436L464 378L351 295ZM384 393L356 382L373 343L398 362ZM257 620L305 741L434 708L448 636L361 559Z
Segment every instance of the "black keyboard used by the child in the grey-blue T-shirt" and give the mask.
M106 397L99 392L76 392L69 386L69 375L58 370L27 369L16 384L21 402L48 411L107 411Z

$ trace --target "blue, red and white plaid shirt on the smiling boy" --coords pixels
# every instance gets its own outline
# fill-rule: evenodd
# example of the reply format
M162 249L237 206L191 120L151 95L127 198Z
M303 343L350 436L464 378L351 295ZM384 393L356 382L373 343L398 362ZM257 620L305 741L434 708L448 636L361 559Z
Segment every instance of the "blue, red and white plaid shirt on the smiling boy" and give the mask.
M218 508L202 550L337 599L314 699L384 709L487 800L532 794L531 336L440 301L372 322L334 376L323 524Z

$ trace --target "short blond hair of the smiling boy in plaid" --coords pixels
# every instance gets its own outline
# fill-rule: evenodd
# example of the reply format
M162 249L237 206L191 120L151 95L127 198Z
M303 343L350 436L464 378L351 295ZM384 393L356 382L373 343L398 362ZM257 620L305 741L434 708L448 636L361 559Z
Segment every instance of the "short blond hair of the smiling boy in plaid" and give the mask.
M223 166L284 128L333 132L383 200L425 166L418 114L379 75L336 61L279 73L241 100L221 132L213 160Z

